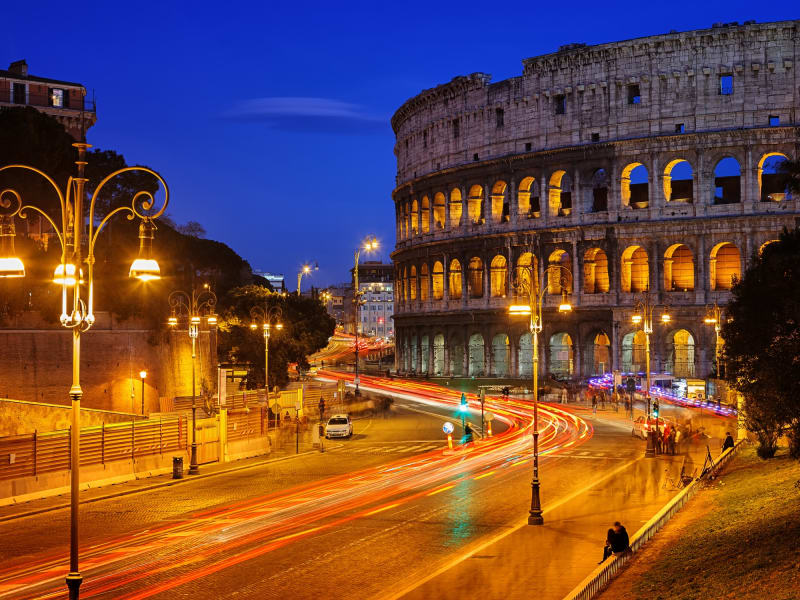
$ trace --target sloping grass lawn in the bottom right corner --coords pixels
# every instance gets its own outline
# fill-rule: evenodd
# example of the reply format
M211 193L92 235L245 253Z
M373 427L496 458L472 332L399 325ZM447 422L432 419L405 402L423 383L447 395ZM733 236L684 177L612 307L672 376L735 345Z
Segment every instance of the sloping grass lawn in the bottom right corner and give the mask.
M605 600L800 600L800 462L744 449L634 557Z

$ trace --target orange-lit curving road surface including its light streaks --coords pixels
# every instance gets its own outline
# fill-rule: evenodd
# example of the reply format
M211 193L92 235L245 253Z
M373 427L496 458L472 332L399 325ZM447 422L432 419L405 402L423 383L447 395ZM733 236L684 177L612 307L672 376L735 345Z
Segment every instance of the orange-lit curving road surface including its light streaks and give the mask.
M324 454L85 505L82 597L386 597L527 514L528 403L489 400L497 435L448 452L457 393L362 388L392 391L396 411ZM595 439L557 407L540 419L545 508L641 452L624 428L600 424ZM0 524L0 598L64 597L67 523L57 511Z

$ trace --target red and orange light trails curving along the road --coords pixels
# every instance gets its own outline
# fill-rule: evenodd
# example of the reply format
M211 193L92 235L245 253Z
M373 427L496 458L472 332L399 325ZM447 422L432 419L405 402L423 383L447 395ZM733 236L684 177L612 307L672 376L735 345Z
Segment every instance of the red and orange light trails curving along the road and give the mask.
M333 372L322 376L352 380L350 375ZM440 409L455 410L461 400L460 392L427 382L362 377L361 387ZM466 398L472 411L480 411L475 395ZM531 403L487 397L485 408L508 425L506 431L454 451L432 450L85 546L81 548L86 577L81 596L91 598L114 590L119 600L148 598L350 521L527 462L532 446ZM542 455L582 443L592 434L585 421L558 407L540 403L539 414ZM62 597L66 571L63 552L7 566L0 569L0 598ZM137 589L137 582L161 574L168 574L163 582Z

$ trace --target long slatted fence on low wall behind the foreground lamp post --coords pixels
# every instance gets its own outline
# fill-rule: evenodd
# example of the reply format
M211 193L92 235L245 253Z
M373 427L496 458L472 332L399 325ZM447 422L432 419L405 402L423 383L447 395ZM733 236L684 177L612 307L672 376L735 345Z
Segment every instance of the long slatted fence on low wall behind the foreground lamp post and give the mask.
M70 429L0 438L0 481L69 470ZM81 429L81 466L186 448L186 422L131 421Z

